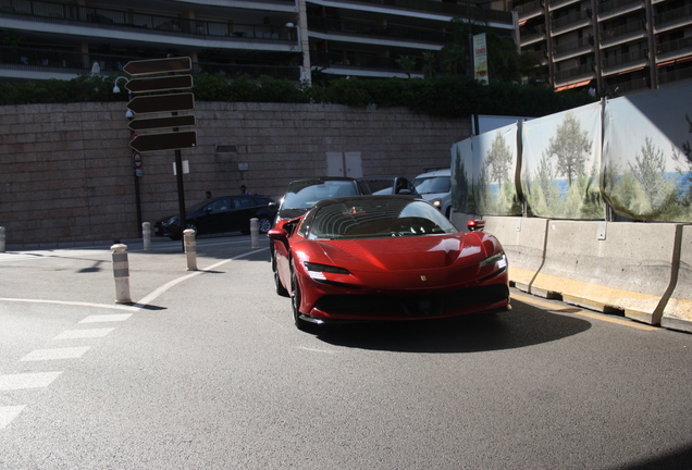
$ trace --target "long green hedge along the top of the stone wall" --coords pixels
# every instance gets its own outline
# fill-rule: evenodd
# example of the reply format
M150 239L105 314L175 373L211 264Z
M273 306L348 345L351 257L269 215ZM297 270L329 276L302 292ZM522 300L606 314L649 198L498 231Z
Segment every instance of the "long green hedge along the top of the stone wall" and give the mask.
M71 81L0 83L0 104L29 104L84 101L126 101L124 82L113 94L115 76L82 75ZM555 92L545 86L496 82L483 86L466 76L431 78L336 78L312 86L260 77L238 77L232 82L223 75L195 75L197 101L237 102L323 102L380 108L406 107L416 112L464 118L474 113L491 115L542 116L588 104L596 100L586 92Z

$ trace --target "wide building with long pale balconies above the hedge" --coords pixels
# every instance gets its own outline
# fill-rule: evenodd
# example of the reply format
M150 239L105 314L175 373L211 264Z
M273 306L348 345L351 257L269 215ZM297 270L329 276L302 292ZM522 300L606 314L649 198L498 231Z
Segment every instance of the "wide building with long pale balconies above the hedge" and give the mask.
M191 58L195 72L309 81L406 76L447 41L454 17L510 35L479 0L0 0L0 79L118 74L131 60Z

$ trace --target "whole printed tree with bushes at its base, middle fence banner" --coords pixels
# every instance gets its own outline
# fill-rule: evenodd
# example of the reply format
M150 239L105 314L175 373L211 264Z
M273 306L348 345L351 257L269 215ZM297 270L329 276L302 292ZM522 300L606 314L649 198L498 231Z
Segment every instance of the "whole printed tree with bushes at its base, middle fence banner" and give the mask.
M577 116L565 113L555 136L548 138L534 174L522 178L531 213L564 219L603 217L603 201L594 184L595 164L586 171L592 145L589 132L581 128ZM560 177L566 180L566 190L560 190Z

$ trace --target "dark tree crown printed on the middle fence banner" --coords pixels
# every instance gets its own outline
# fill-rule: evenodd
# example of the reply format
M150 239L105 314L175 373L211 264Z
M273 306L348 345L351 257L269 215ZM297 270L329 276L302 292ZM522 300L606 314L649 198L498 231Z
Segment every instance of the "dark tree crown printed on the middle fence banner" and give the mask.
M543 154L548 159L557 159L555 175L566 176L570 186L577 177L586 174L585 164L591 154L591 140L589 132L581 129L573 113L566 113L565 121L557 126L556 136L548 139L548 147Z

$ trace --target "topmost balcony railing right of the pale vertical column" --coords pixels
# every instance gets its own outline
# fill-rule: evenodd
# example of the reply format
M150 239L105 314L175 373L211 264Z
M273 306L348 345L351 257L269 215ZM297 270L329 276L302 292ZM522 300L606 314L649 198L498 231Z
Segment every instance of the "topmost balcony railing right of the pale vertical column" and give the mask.
M413 10L425 13L437 13L445 16L470 17L482 22L497 22L511 24L511 12L499 10L481 9L470 7L467 9L467 0L457 0L456 3L441 2L434 0L347 0L345 3L360 3L379 5L384 8L395 8L403 10Z

